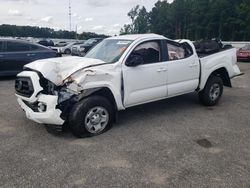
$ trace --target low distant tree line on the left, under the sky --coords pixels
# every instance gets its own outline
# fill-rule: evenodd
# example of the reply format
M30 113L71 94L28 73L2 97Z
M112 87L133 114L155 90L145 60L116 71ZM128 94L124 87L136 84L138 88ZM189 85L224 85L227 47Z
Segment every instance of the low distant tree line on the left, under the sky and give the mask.
M57 38L57 39L89 39L89 38L105 38L106 35L99 35L91 32L83 32L77 34L74 31L59 30L55 31L51 28L41 28L33 26L17 26L17 25L0 25L0 36L2 37L34 37L34 38Z

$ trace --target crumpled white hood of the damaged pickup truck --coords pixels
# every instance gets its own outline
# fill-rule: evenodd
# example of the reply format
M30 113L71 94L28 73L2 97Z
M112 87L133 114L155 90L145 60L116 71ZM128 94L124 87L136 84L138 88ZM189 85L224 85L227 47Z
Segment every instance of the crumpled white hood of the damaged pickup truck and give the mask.
M105 64L105 62L98 59L70 56L38 60L24 67L38 71L44 78L56 85L61 85L66 78L78 70L101 64Z

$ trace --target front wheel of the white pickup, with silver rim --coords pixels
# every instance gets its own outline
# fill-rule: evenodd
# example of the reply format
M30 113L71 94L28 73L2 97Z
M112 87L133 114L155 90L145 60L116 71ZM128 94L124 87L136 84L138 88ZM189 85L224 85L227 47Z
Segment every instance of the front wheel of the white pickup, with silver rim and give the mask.
M114 122L114 108L108 99L90 96L75 104L69 115L72 133L79 137L91 137L102 134L111 128Z

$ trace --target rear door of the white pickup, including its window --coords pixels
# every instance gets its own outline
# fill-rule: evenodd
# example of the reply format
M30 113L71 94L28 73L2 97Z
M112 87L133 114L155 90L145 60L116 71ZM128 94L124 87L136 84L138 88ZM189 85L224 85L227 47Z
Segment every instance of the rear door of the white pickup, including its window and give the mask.
M195 91L199 84L199 58L188 43L166 41L168 97Z

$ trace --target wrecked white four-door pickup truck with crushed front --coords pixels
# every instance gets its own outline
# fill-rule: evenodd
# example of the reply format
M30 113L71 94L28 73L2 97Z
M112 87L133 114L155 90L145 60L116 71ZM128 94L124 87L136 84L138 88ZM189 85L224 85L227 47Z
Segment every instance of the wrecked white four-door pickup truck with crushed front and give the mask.
M78 137L107 131L116 112L197 92L204 105L216 105L223 85L241 74L236 49L197 54L189 40L156 34L105 39L85 57L39 60L18 74L18 103L27 118L70 126Z

